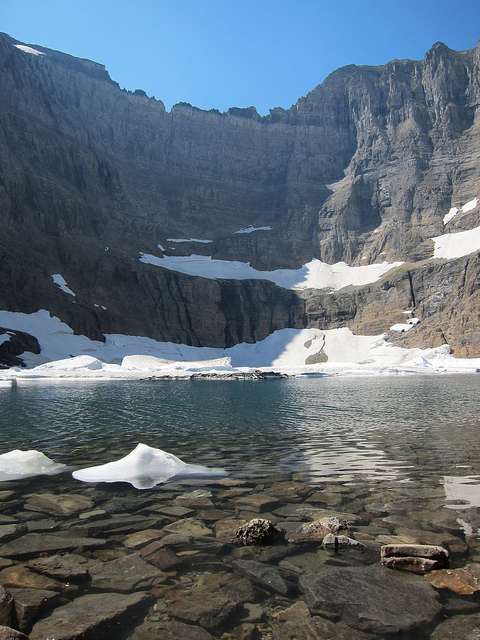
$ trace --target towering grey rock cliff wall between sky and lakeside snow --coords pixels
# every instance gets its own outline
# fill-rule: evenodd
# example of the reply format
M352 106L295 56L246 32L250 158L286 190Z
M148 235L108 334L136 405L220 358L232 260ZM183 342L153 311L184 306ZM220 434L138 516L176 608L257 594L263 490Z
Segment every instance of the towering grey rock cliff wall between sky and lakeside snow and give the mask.
M99 64L17 44L0 36L0 309L44 308L96 339L231 346L284 327L382 333L409 308L425 322L403 342L480 355L478 253L430 259L432 237L480 225L478 206L443 222L480 195L479 47L345 67L260 117L169 113ZM406 265L331 294L187 276L139 252Z

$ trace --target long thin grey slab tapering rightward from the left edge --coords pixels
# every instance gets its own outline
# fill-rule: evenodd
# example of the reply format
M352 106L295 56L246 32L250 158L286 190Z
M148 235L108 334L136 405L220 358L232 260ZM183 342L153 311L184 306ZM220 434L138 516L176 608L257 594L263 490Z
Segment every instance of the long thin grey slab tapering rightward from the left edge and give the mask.
M40 533L27 533L0 547L0 556L21 558L52 551L67 551L77 547L102 547L106 544L103 538L77 538L73 536L55 536Z

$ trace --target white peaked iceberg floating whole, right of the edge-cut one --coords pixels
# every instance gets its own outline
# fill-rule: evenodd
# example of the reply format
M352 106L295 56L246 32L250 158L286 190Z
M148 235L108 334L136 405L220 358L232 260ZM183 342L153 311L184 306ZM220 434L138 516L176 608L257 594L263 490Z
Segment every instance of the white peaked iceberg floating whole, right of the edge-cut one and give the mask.
M98 467L74 471L72 476L81 482L129 482L136 489L151 489L174 476L227 475L221 469L187 464L166 451L138 444L124 458Z

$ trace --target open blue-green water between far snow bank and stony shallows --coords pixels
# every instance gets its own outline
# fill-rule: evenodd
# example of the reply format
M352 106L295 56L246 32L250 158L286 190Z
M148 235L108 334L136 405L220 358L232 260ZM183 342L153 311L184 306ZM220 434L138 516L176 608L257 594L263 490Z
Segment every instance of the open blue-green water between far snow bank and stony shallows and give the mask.
M29 382L0 389L1 452L117 459L138 442L249 476L480 473L480 377Z

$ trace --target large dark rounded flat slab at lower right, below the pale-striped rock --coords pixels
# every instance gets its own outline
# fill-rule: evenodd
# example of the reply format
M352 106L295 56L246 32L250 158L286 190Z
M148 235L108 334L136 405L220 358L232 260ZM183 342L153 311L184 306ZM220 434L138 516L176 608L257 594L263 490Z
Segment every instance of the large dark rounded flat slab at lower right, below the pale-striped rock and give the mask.
M436 591L423 579L376 565L307 574L299 586L312 614L373 633L410 631L441 610Z

